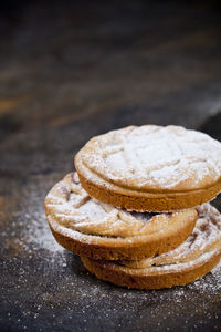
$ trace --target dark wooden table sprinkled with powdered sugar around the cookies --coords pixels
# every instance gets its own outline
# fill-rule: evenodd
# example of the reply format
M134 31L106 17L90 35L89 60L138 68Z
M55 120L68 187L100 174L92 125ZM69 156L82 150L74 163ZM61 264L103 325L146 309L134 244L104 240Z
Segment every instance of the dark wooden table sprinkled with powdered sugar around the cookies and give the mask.
M221 139L219 1L1 6L0 330L221 331L221 268L172 290L114 287L55 243L43 207L94 135L155 123Z

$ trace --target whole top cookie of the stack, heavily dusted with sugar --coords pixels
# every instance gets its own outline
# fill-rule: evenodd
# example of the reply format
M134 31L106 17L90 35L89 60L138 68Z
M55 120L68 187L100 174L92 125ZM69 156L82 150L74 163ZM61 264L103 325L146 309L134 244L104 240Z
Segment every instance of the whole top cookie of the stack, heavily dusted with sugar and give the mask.
M193 207L221 190L221 144L178 126L129 126L94 137L75 167L91 196L139 211Z

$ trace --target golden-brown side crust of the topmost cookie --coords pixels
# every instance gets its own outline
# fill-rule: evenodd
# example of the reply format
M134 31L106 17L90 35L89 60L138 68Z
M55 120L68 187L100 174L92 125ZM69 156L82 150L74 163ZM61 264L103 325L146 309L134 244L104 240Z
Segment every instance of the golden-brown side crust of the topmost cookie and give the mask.
M90 196L114 205L118 208L126 208L135 211L168 212L188 209L210 201L221 190L221 179L211 187L186 193L141 193L117 187L116 185L103 183L95 184L84 176L83 168L77 168L82 187ZM88 170L87 170L88 173Z

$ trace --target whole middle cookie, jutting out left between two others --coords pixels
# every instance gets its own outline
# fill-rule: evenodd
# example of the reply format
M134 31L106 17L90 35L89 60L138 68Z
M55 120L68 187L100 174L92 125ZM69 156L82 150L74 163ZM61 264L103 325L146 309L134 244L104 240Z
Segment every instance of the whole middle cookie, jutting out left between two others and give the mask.
M141 259L178 247L191 234L198 212L128 212L91 198L76 173L57 183L45 198L56 241L94 259Z

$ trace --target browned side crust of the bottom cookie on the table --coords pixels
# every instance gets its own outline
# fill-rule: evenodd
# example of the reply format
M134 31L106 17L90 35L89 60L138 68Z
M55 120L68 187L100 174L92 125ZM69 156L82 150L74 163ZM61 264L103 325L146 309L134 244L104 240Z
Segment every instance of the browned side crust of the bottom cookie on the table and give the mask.
M185 286L206 276L220 261L221 250L213 252L208 260L198 260L192 266L180 271L167 271L164 274L135 273L134 269L126 269L113 262L105 262L81 257L85 268L98 279L109 281L116 286L135 289L164 289Z

